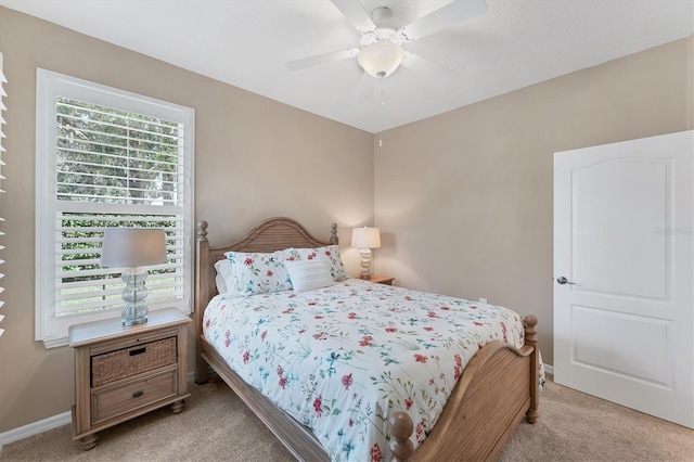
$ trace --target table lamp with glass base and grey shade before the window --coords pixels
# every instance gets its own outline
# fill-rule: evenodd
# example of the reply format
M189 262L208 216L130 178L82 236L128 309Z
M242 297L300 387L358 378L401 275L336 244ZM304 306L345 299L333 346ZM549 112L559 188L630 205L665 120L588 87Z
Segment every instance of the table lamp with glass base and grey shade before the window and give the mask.
M121 311L124 325L147 322L149 308L144 299L149 291L144 285L147 271L140 267L165 264L166 235L164 230L150 228L106 228L101 247L101 266L125 269L120 277L126 283Z

